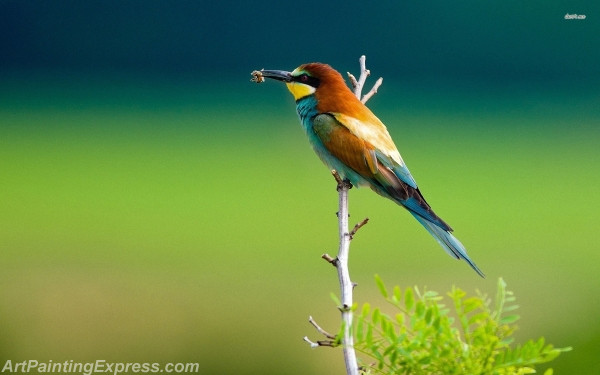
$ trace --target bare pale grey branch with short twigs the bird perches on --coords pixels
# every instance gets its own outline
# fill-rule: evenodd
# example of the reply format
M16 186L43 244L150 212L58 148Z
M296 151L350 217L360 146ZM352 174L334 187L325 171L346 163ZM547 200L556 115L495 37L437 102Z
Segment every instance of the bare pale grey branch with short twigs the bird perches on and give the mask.
M364 96L362 96L362 89L365 85L367 77L371 74L371 72L366 68L366 57L363 55L359 59L360 64L360 76L358 80L352 74L348 73L348 77L350 78L350 82L352 83L352 87L354 89L354 95L364 104L366 103L373 95L377 93L377 89L381 86L383 82L383 78L379 78L373 88ZM339 228L339 249L337 257L333 258L329 254L323 254L321 258L325 259L328 263L332 264L338 273L338 279L340 282L341 289L341 305L339 310L342 314L342 327L343 332L341 333L341 337L336 337L327 331L323 330L312 317L309 317L309 323L312 324L315 329L325 336L326 340L311 341L308 337L304 337L304 341L310 344L311 348L316 348L319 346L338 346L341 345L344 352L344 362L346 365L346 374L347 375L358 375L359 366L356 359L356 352L354 350L354 337L352 335L352 292L354 287L356 286L350 280L350 272L348 270L348 257L350 253L350 241L356 235L356 232L360 228L362 228L367 222L369 218L365 218L361 222L357 223L351 231L348 231L348 191L352 188L352 183L347 179L343 179L340 174L333 170L331 174L335 178L337 182L337 191L338 191L338 204L339 210L337 213L338 217L338 228Z

